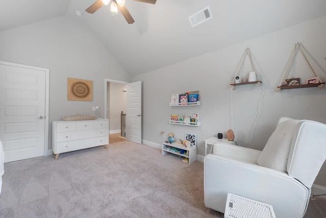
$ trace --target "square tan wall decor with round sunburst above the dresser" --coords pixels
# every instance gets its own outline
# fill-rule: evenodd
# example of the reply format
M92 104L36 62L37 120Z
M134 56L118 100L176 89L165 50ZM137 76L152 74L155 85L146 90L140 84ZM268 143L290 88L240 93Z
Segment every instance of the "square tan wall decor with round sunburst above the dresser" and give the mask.
M68 78L68 101L93 101L93 81Z

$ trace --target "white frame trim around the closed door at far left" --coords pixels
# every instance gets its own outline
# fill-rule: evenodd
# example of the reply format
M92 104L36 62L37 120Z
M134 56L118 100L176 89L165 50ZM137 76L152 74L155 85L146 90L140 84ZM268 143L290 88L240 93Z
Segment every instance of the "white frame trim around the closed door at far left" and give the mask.
M30 65L25 65L25 64L11 63L11 62L6 62L6 61L0 61L0 64L45 71L44 156L52 155L53 154L52 150L51 149L49 150L49 84L50 84L49 74L50 74L50 69L36 67L36 66L30 66Z

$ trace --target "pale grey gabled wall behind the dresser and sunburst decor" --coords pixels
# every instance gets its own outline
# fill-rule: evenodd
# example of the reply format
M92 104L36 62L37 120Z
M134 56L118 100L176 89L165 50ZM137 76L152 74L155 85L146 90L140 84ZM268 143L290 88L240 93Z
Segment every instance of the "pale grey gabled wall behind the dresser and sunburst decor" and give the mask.
M79 113L94 115L92 106L104 108L105 78L130 80L97 38L68 16L2 31L0 48L2 61L50 69L50 131L52 120ZM93 102L67 101L68 77L92 80Z

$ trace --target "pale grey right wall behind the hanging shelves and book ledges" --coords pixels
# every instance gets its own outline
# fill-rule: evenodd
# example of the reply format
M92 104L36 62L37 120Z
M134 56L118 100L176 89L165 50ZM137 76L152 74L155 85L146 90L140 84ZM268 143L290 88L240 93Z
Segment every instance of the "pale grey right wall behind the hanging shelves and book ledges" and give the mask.
M189 59L132 78L143 81L143 140L161 143L161 131L177 138L197 134L198 154L204 155L204 139L232 128L240 146L262 150L281 116L326 123L326 90L290 89L276 92L294 44L302 42L319 77L326 81L326 17L245 41L223 50ZM189 45L191 46L191 45ZM244 50L250 47L262 86L230 83ZM249 60L242 76L252 69ZM287 78L314 77L297 55ZM199 90L200 106L169 107L171 94ZM200 127L172 125L171 114L199 113ZM326 166L315 184L326 186Z

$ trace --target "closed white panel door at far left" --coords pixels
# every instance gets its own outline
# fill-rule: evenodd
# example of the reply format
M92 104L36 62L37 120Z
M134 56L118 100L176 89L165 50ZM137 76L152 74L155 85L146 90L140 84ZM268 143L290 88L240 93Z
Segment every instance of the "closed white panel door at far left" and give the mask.
M0 140L5 162L44 156L48 69L5 63L0 62Z

